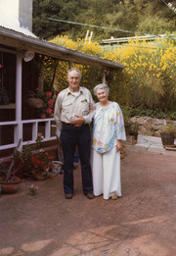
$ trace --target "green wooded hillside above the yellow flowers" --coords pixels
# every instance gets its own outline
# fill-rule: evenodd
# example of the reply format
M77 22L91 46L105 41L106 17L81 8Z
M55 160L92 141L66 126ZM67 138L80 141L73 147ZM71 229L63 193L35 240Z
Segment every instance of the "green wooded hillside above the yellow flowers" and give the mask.
M175 5L175 1L169 1ZM176 6L175 6L176 7ZM71 25L49 18L133 32ZM133 36L135 32L161 34L176 30L176 15L161 0L33 0L33 32L44 39L66 34L76 40L87 29L93 40Z

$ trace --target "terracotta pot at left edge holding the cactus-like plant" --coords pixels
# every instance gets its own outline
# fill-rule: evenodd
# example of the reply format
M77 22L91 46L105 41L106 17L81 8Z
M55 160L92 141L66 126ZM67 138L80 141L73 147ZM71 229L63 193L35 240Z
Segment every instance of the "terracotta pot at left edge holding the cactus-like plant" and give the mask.
M16 193L20 188L21 181L20 178L15 178L14 181L10 182L1 180L1 192L5 194Z

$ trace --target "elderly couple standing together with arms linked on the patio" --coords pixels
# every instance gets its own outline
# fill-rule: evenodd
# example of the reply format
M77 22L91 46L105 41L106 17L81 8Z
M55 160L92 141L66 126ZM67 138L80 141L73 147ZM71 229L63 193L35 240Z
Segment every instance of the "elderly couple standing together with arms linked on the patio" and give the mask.
M65 196L71 199L74 192L73 158L77 146L83 193L88 199L101 194L104 199L117 199L121 196L121 141L126 139L123 116L118 104L109 101L108 85L95 86L94 93L99 100L95 104L90 91L79 86L80 80L80 71L70 69L68 87L59 93L55 105L55 120L64 153ZM89 125L92 121L91 139Z

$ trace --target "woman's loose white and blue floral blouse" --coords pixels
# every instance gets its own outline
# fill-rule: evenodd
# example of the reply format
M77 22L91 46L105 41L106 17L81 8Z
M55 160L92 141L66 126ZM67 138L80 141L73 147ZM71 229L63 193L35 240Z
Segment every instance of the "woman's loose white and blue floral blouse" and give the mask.
M118 139L126 140L120 107L116 102L111 102L107 108L103 108L98 102L94 116L93 148L105 153L116 146Z

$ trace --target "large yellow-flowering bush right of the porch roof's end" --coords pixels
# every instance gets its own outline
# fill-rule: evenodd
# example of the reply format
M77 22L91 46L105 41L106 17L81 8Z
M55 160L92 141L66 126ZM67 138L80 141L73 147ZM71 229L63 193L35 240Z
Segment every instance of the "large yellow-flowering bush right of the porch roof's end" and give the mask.
M169 110L176 104L176 47L172 40L154 42L136 40L119 46L105 57L126 65L123 91L126 104L151 109ZM122 85L123 87L124 84ZM120 95L120 97L121 97ZM124 96L123 96L124 97ZM119 98L120 100L120 98Z

